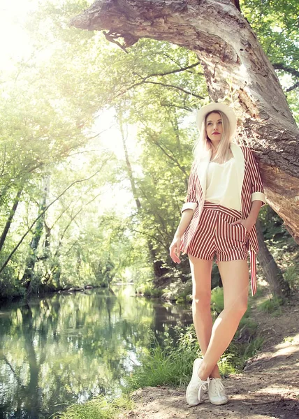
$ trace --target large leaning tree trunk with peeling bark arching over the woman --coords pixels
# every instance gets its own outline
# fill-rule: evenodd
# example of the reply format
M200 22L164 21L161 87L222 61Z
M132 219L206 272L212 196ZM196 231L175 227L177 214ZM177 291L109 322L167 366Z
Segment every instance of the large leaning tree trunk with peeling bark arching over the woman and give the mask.
M98 0L71 24L106 38L169 41L196 52L213 101L233 99L240 141L258 151L271 207L299 243L299 130L270 61L231 0Z

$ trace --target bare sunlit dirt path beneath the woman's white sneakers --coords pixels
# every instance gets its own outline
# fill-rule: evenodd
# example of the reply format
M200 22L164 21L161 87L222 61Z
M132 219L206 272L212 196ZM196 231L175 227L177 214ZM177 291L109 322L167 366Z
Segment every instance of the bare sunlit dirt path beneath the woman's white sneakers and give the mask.
M133 393L135 409L119 419L299 419L298 307L294 301L277 317L254 310L265 337L263 350L242 374L224 379L228 404L214 406L205 395L202 404L191 407L184 388L147 387Z

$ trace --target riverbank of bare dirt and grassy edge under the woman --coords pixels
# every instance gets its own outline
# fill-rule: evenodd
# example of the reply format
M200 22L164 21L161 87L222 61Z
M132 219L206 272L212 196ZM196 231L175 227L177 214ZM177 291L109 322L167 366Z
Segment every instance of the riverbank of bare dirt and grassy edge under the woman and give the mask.
M181 362L181 371L175 359L168 357L163 361L160 374L157 363L152 360L152 374L150 367L141 372L137 378L131 377L131 385L139 387L130 392L127 399L115 400L108 406L104 406L101 400L96 409L96 401L88 402L86 406L74 406L73 410L66 411L62 418L143 418L143 419L214 419L216 416L231 419L298 419L299 417L299 297L294 296L285 305L277 306L275 302L268 312L263 307L268 300L268 295L261 295L256 300L250 301L250 318L258 323L257 339L263 337L261 348L255 355L245 362L242 372L229 372L224 374L224 385L229 396L229 402L225 406L214 406L205 395L203 404L190 407L185 399L185 389L189 382L189 374L186 374L186 364L190 364L194 353L182 354L185 362ZM240 339L249 339L239 331ZM260 341L261 343L261 341ZM155 352L153 352L155 354ZM159 349L156 351L159 358ZM224 361L224 360L223 360ZM162 363L163 363L162 362ZM166 364L168 362L168 364ZM224 361L225 362L225 361ZM161 364L161 360L160 360ZM144 368L145 366L143 366ZM225 367L225 365L222 365ZM190 369L190 368L189 368ZM168 377L167 377L167 374ZM224 372L224 368L222 368ZM141 374L141 378L140 378ZM163 376L162 376L163 375ZM179 381L178 376L180 376ZM160 379L160 382L159 382ZM141 382L150 385L140 385ZM173 382L171 382L173 381ZM181 381L181 382L180 382ZM175 384L174 384L175 383ZM125 395L126 396L126 395ZM90 403L90 404L89 404ZM97 410L96 416L90 413L90 406ZM121 404L121 406L117 406ZM89 407L87 407L89 405ZM104 408L104 409L103 409ZM78 409L80 409L80 414ZM104 415L105 413L108 416Z

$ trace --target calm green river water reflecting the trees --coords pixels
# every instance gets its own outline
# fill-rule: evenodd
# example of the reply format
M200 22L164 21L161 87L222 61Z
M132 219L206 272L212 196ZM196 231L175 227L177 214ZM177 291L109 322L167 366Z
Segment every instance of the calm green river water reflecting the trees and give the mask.
M190 307L135 297L133 286L36 298L0 310L0 417L48 418L117 391L122 377Z

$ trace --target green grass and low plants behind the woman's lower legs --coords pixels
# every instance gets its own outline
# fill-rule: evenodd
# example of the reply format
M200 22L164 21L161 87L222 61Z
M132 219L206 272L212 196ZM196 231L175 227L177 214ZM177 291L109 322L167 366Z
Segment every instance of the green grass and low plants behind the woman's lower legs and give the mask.
M193 362L202 357L194 325L176 327L176 336L163 335L163 345L152 335L152 348L140 359L140 366L126 379L124 387L131 392L147 385L187 385L192 374ZM242 319L235 339L219 360L222 376L240 372L248 358L255 355L263 344L263 337L256 335L257 325L249 319ZM243 341L244 335L248 341ZM241 338L240 338L241 336ZM242 337L243 336L243 337Z

